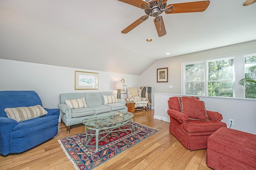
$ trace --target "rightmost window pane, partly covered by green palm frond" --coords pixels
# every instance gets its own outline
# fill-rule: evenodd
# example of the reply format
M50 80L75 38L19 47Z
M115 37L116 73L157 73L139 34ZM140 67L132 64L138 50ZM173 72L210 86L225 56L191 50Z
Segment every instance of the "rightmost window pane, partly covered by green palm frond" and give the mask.
M245 78L256 79L256 55L244 57ZM256 83L246 82L245 84L245 98L256 98Z

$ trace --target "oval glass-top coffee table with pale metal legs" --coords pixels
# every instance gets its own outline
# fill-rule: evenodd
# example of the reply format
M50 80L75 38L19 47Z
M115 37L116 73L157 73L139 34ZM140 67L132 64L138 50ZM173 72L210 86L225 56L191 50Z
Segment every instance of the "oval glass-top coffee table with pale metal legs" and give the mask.
M112 111L109 113L101 113L98 115L92 115L82 121L86 133L86 140L89 135L95 135L96 138L96 149L98 151L99 141L109 135L112 132L132 130L133 129L133 113L128 111ZM125 125L129 121L132 121L131 129L120 129L122 125ZM118 130L115 130L117 129ZM88 133L87 129L94 130L95 133ZM99 135L107 133L104 137L99 139Z

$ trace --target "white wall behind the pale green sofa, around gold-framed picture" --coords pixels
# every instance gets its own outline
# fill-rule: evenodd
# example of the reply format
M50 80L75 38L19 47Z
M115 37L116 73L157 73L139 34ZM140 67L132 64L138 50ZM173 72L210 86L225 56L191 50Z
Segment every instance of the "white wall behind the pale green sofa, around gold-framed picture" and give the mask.
M98 90L74 90L75 70L98 72ZM115 82L122 78L125 86L139 87L136 75L0 59L0 90L34 90L46 108L58 108L61 93L112 91L116 94ZM121 94L121 98L126 97L127 94Z

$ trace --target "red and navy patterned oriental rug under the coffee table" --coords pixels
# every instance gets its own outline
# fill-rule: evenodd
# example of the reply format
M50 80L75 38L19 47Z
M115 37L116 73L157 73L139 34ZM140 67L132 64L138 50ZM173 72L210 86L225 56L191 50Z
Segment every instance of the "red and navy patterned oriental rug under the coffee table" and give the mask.
M131 127L132 122L129 122L120 128L132 129ZM85 132L62 138L59 143L77 170L91 170L158 131L136 122L133 129L132 133L131 130L124 130L112 132L106 137L104 135L107 133L99 135L99 139L104 138L99 141L97 152L95 135L89 136L86 140Z

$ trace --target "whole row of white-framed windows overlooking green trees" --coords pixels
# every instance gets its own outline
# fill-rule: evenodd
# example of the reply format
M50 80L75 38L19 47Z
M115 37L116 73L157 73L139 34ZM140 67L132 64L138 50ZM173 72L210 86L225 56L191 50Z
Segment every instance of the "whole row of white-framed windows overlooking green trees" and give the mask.
M182 63L182 94L256 98L256 83L239 80L256 80L256 55L243 53Z

